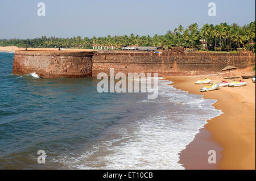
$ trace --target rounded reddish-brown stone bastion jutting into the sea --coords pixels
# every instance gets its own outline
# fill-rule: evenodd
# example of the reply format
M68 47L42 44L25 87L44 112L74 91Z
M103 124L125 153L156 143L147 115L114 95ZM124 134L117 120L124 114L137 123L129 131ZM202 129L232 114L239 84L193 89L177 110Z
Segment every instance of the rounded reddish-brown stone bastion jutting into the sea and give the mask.
M19 50L15 52L13 74L35 72L42 78L92 76L93 52Z

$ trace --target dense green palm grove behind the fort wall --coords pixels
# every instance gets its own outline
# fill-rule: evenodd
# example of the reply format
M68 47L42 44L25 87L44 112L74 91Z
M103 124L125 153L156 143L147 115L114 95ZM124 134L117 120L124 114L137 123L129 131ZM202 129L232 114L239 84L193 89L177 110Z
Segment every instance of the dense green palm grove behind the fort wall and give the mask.
M207 42L205 50L226 50L232 51L239 48L255 49L255 21L245 26L238 26L233 23L204 24L202 28L194 23L187 28L181 25L174 31L168 31L166 35L154 35L153 37L134 35L130 36L110 36L92 37L89 39L80 36L73 38L46 37L36 39L2 39L0 46L17 47L63 47L63 48L92 48L98 46L126 47L135 46L154 46L154 47L184 47L190 49L201 49L200 40Z

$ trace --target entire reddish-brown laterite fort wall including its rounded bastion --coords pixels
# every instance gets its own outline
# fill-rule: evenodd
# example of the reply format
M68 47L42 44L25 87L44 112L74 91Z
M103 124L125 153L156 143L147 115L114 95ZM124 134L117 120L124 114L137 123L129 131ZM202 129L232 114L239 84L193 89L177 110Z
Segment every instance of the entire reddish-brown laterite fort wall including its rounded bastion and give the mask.
M121 51L56 51L18 50L15 52L13 74L35 72L43 78L97 77L109 69L115 73L158 73L168 75L201 75L218 73L226 65L247 68L255 64L255 54L175 52L160 53Z

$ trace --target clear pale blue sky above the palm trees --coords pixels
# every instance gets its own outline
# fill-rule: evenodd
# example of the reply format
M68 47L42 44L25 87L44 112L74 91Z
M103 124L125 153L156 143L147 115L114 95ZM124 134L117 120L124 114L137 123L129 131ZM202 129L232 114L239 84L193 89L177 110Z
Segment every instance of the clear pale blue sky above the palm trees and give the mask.
M46 16L38 16L38 3ZM208 16L215 2L217 16ZM1 0L0 39L41 36L92 37L163 35L181 24L222 22L244 25L255 20L255 0Z

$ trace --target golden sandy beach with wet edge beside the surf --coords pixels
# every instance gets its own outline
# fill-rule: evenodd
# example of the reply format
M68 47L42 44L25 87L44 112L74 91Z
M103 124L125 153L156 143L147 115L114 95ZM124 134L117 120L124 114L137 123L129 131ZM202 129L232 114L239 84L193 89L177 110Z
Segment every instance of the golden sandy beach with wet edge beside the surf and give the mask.
M233 71L231 75L241 77L254 73L247 68ZM205 85L195 85L197 80L206 77L221 82L228 75L166 77L177 89L217 100L213 106L223 112L208 120L195 139L181 151L180 163L185 169L255 169L255 83L245 79L248 83L245 87L221 87L208 92L200 92ZM242 78L236 80L239 79ZM216 164L208 163L208 150L216 150Z

